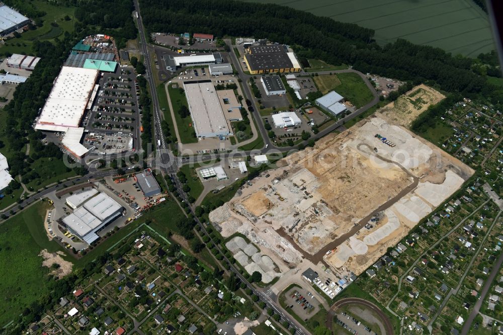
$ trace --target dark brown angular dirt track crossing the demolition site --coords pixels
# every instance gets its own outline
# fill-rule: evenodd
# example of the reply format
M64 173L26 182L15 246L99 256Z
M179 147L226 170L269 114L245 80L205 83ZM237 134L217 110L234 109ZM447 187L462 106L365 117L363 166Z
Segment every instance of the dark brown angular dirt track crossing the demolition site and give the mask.
M403 198L407 193L409 193L412 190L414 190L417 187L417 185L419 184L419 178L417 178L414 175L412 175L401 164L399 164L399 163L397 163L397 162L395 162L393 160L390 160L388 158L384 158L384 157L378 155L377 153L374 153L374 150L368 144L366 144L366 143L361 143L357 147L358 147L359 150L361 150L360 148L362 146L366 146L369 149L369 152L368 152L369 154L374 155L377 158L379 158L379 159L381 159L381 160L383 160L383 161L385 161L387 163L395 164L398 167L400 167L400 169L403 172L405 172L410 178L412 178L413 182L412 182L412 184L410 184L409 186L407 186L406 188L404 188L403 190L401 190L396 196L394 196L390 200L386 201L384 204L382 204L381 206L379 206L375 210L373 210L369 215L367 215L366 217L364 217L363 219L361 219L357 224L355 224L355 226L353 228L351 228L351 230L349 232L347 232L344 235L341 235L339 238L337 238L337 239L333 240L332 242L328 243L327 245L325 245L324 247L322 247L314 255L308 254L297 243L295 243L293 241L293 237L290 236L285 231L285 229L283 227L276 230L276 232L278 234L280 234L282 237L284 237L286 239L289 239L291 241L292 245L295 247L295 249L297 249L298 252L300 252L305 259L308 259L309 261L313 262L313 264L318 264L319 262L321 262L321 263L323 263L328 268L329 267L328 264L323 260L323 256L325 256L325 254L328 252L328 250L333 250L333 249L337 248L339 245L341 245L342 243L344 243L348 238L350 238L351 236L355 235L360 229L362 229L362 227L365 226L365 224L367 224L367 222L369 222L370 219L374 215L376 215L377 213L379 213L381 211L384 211L384 210L390 208L391 206L393 206L398 200L400 200L401 198ZM361 150L361 151L363 151L363 150Z

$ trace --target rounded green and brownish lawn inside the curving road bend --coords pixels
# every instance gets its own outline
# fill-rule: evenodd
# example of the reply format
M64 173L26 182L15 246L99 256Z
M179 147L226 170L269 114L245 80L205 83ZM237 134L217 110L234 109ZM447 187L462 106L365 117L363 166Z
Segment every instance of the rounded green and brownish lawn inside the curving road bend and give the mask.
M321 93L336 90L357 108L374 98L363 79L356 73L323 74L313 78Z

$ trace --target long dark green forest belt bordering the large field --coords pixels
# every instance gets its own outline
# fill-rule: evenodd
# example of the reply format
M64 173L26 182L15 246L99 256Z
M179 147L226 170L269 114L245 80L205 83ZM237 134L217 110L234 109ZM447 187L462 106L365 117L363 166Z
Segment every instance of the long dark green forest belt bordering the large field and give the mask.
M334 65L346 63L364 73L425 82L472 98L482 94L494 104L503 102L503 88L490 85L483 75L474 72L473 59L405 40L381 47L373 40L373 30L355 24L278 5L232 0L141 0L141 6L151 32L268 38L291 45L299 57Z

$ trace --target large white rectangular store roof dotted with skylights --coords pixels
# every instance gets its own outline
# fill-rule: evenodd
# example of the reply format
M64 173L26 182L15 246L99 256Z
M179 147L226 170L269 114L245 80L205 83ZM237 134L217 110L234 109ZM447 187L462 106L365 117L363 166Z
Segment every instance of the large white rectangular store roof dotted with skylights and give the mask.
M78 127L99 73L96 69L63 66L35 129L66 131Z

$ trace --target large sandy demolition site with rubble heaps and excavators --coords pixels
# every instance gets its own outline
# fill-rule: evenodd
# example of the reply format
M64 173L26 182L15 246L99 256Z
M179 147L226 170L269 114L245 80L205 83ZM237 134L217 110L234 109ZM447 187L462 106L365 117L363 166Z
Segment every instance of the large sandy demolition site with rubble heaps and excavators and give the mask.
M361 274L473 174L380 117L325 137L278 166L212 211L210 220L223 236L247 236L282 273L304 259L341 275Z

